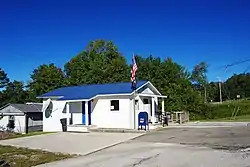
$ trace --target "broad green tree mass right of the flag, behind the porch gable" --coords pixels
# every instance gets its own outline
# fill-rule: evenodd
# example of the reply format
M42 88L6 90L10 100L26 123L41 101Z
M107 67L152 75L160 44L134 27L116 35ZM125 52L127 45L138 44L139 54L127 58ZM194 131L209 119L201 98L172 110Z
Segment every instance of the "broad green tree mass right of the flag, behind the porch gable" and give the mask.
M149 80L164 95L167 95L165 109L167 111L195 110L200 104L200 97L193 89L190 74L187 70L172 61L171 58L161 60L152 55L143 58L136 56L138 79Z

